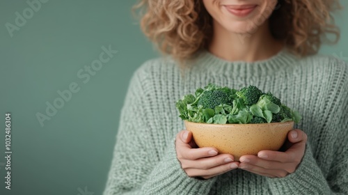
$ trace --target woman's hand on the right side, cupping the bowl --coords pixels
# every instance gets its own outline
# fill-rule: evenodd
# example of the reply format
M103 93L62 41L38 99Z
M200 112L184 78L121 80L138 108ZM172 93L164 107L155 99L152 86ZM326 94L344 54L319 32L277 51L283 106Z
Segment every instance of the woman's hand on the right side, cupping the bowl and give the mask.
M292 130L287 134L285 152L262 150L255 155L239 158L239 169L270 178L283 178L294 173L299 166L306 149L307 134L301 130Z

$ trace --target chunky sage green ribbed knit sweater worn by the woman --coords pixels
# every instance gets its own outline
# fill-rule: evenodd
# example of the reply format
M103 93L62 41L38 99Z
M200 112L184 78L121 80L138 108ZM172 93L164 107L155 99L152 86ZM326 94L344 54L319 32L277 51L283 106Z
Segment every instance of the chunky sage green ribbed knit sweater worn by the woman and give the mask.
M308 134L296 171L268 178L235 169L208 180L190 178L175 151L184 130L176 100L208 83L271 91L303 119ZM328 56L297 59L285 49L265 61L229 62L201 52L180 76L171 59L134 72L122 107L104 194L348 194L348 65Z

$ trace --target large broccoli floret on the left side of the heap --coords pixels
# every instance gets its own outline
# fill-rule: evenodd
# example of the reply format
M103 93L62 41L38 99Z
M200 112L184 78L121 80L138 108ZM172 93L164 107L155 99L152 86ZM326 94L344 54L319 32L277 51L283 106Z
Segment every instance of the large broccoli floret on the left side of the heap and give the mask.
M214 109L220 104L232 104L230 95L226 93L226 91L204 91L203 95L200 97L200 100L198 100L198 105L203 105L203 108L205 109Z

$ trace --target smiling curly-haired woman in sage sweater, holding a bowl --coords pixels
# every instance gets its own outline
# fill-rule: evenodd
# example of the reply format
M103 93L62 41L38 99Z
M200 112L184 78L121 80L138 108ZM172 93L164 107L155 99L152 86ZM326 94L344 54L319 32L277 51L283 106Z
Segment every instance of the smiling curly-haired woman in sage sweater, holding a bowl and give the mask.
M331 23L338 7L141 1L145 35L169 55L132 77L104 194L348 194L348 65L317 55L327 35L339 36ZM208 83L258 86L299 111L287 150L235 162L216 148L194 148L175 101Z

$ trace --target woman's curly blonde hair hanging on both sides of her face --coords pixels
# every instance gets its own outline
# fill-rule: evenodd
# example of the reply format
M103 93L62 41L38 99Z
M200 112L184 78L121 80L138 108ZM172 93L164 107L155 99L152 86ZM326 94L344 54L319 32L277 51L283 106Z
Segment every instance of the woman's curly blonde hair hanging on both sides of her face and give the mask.
M338 41L340 31L332 15L333 10L340 8L338 0L278 0L278 3L280 8L269 18L271 33L292 53L316 54L322 42ZM163 54L185 61L209 46L212 17L202 0L140 0L134 10L141 18L143 33Z

